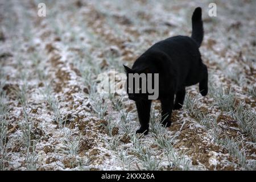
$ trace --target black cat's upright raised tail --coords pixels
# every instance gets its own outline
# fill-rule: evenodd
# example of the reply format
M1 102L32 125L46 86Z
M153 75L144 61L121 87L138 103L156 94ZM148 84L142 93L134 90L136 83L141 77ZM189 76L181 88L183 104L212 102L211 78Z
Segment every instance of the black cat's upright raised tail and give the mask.
M197 7L192 15L192 35L191 38L196 41L198 47L201 46L201 43L204 38L204 27L202 20L202 9Z

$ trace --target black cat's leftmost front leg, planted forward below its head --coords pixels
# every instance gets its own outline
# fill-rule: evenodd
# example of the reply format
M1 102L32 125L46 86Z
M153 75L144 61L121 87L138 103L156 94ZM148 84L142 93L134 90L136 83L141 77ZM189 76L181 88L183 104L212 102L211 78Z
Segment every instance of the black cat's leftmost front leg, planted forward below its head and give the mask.
M151 100L136 101L135 104L138 111L139 123L141 124L141 127L136 133L144 133L147 135L150 121Z

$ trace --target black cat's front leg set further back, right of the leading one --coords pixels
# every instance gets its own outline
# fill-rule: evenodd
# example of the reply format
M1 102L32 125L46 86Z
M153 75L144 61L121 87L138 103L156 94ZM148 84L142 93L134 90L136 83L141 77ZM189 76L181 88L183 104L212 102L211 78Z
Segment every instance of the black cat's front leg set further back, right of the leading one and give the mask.
M164 98L161 101L162 105L162 125L165 127L171 126L171 115L174 107L174 94Z

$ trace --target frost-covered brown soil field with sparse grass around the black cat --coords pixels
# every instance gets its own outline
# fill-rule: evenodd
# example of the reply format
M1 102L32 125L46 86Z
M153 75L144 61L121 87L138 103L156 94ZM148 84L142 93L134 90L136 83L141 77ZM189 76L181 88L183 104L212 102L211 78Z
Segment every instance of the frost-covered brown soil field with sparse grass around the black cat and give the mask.
M255 1L42 1L0 3L1 170L255 170ZM209 94L187 88L172 125L135 135L126 94L96 92L97 76L123 72L153 43L191 35L203 8L200 47ZM119 81L119 80L117 80Z

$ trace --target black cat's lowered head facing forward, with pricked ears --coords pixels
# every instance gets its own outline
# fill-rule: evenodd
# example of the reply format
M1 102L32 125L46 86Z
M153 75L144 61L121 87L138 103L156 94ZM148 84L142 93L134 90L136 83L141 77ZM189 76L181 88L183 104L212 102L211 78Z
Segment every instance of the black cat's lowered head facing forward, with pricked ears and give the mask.
M149 68L131 69L125 67L127 75L126 92L130 100L140 101L148 99L147 92L147 73L150 72Z

